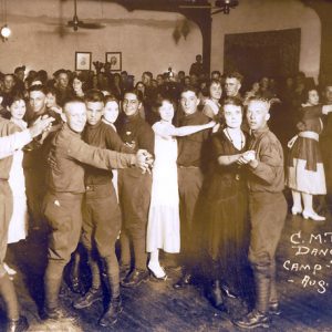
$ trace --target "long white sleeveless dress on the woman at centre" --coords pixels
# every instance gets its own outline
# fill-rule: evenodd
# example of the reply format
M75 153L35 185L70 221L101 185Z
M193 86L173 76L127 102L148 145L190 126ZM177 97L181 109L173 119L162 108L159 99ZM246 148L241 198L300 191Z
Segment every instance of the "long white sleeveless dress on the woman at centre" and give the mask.
M179 252L179 196L177 185L177 141L159 136L165 124L154 124L155 163L148 212L146 251ZM169 124L166 124L169 126Z

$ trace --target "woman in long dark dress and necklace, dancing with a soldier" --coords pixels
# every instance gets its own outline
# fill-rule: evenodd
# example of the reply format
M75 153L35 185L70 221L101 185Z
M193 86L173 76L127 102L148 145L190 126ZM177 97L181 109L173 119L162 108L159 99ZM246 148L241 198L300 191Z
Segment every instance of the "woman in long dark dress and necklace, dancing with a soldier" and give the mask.
M212 304L226 310L222 293L243 295L248 257L249 222L245 169L239 164L246 152L241 131L242 105L227 98L221 107L225 125L212 136L215 167L204 186L205 246L211 279Z

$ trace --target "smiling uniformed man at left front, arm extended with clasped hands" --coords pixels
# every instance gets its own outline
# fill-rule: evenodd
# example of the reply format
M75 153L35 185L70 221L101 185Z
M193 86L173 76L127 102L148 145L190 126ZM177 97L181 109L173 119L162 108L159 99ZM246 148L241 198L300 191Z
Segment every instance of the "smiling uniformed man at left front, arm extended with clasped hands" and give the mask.
M148 168L147 152L122 154L87 145L81 139L86 122L86 106L80 98L65 103L66 124L54 136L48 169L48 193L44 215L51 229L48 267L44 277L44 318L59 320L66 314L59 307L58 298L65 264L76 249L82 227L82 198L85 193L83 164L103 169L131 166Z

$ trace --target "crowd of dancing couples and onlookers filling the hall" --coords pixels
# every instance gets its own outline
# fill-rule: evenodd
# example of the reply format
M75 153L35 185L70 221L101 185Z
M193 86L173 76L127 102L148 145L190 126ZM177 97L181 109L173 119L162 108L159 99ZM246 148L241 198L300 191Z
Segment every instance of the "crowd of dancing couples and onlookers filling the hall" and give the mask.
M255 305L234 324L269 326L280 314L276 250L288 211L284 184L293 215L323 221L331 203L324 198L332 195L332 83L320 91L298 73L283 85L262 77L242 93L241 74L207 76L201 58L189 75L169 69L154 79L147 71L136 84L107 63L95 69L61 69L52 79L25 66L0 74L7 330L29 326L6 264L7 245L45 226L42 319L69 315L59 301L63 272L72 260L71 287L81 292L84 250L92 282L73 307L107 298L97 322L113 325L123 310L121 287L167 280L163 250L177 253L181 267L174 289L204 271L212 305L225 312L225 297L247 299L253 273Z

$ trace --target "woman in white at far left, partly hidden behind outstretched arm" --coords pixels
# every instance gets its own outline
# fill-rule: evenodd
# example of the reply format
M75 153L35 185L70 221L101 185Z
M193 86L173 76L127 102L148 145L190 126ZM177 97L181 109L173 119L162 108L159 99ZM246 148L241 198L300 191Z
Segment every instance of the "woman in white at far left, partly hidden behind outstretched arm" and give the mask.
M22 94L17 94L10 101L10 121L17 125L17 131L27 128L23 121L25 114L25 101ZM25 239L28 226L28 206L25 196L25 179L22 167L23 152L17 151L12 156L12 165L9 174L9 185L13 196L13 212L9 222L8 243Z

